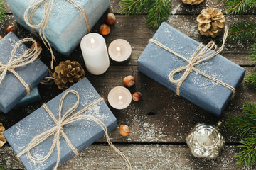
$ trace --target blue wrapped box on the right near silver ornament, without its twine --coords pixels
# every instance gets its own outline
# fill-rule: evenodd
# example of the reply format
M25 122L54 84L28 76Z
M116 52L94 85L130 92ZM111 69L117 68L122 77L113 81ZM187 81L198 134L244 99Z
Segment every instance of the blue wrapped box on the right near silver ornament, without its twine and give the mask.
M152 39L161 42L188 60L200 45L199 42L167 23L161 24ZM186 65L188 65L187 61L152 42L149 42L138 60L140 72L175 92L176 84L169 81L169 74L174 69ZM245 75L245 69L221 55L216 55L194 67L234 88L238 87ZM179 79L182 74L183 72L175 74L174 79ZM233 91L230 89L194 71L183 81L180 88L180 96L214 115L223 113L232 94Z

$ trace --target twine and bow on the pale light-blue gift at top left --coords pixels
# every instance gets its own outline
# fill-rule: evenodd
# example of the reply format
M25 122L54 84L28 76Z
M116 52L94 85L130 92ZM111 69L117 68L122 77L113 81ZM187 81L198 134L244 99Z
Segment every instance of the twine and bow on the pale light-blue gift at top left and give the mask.
M82 16L85 18L85 23L87 26L88 33L90 33L90 26L86 18L85 10L82 7L78 6L78 4L75 4L73 0L65 0L65 1L68 1L70 4L75 6L75 8L78 8L78 10L82 12ZM25 23L29 27L33 28L33 30L35 30L36 28L39 28L39 35L41 37L41 40L43 41L43 44L46 45L46 47L50 51L50 55L52 57L52 61L50 62L51 69L53 69L53 61L55 61L55 56L53 55L52 47L50 47L50 42L46 38L45 30L46 30L48 21L50 19L50 14L53 11L53 2L54 0L36 0L30 6L28 6L23 16ZM39 8L39 6L41 6L41 4L43 4L43 18L40 21L40 23L35 25L33 24L32 18L36 10ZM29 11L31 11L31 13L28 16Z

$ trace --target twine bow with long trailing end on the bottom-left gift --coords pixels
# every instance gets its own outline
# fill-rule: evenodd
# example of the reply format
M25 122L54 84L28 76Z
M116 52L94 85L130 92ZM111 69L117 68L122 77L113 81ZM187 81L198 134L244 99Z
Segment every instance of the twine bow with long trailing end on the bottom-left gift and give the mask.
M65 99L65 97L68 94L75 94L75 96L77 97L77 101L74 104L74 106L72 106L72 108L70 108L67 112L64 113L64 115L62 116L62 108L63 108L63 101ZM95 123L97 123L97 125L100 125L100 128L102 128L102 130L104 130L105 135L106 135L106 139L107 139L107 143L110 145L110 147L112 147L114 149L115 152L117 152L126 162L127 164L127 169L132 169L132 166L129 162L129 159L127 159L127 157L125 157L125 155L119 151L119 149L117 149L117 147L114 147L114 145L112 144L112 142L110 141L110 137L107 134L107 126L102 123L101 120L95 118L92 115L81 115L82 113L84 113L85 111L87 111L89 108L97 105L97 103L100 103L100 101L103 101L103 98L99 98L96 101L93 101L92 103L90 103L88 106L86 106L85 108L82 108L82 110L73 113L79 105L79 94L77 91L75 90L70 90L70 91L66 91L65 94L62 96L62 98L60 99L60 105L58 108L58 120L55 118L55 116L53 115L53 113L49 110L49 108L46 106L46 104L43 104L43 108L46 110L46 112L50 115L50 118L53 119L55 126L53 128L50 128L50 130L47 130L46 132L41 133L40 135L37 135L36 137L34 137L31 142L28 144L28 147L26 147L25 149L23 149L22 152L20 152L19 154L17 154L17 157L21 157L21 155L23 154L27 154L28 158L32 161L32 162L36 162L36 163L41 163L41 162L46 162L46 160L50 157L50 155L53 153L54 148L56 147L57 152L58 152L58 158L57 158L57 162L55 164L54 169L57 169L58 164L60 163L60 134L64 137L65 141L67 142L68 146L70 147L70 149L72 149L72 151L78 155L78 150L75 149L75 147L72 145L72 143L70 142L70 140L68 139L67 135L65 135L65 132L63 131L63 126L64 125L68 125L70 123L76 122L78 120L92 120ZM73 115L71 115L73 113ZM48 154L46 154L46 157L43 157L41 159L33 157L31 155L31 149L33 149L33 147L36 147L37 145L41 144L41 142L43 142L44 140L48 139L48 137L50 137L51 135L54 135L53 138L53 144L50 147L50 150L48 152Z

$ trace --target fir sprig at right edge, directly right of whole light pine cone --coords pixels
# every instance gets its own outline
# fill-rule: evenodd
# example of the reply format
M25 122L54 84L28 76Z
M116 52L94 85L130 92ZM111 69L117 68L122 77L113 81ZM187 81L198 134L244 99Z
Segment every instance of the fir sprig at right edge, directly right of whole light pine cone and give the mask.
M256 38L256 22L242 21L230 25L231 40L253 40Z

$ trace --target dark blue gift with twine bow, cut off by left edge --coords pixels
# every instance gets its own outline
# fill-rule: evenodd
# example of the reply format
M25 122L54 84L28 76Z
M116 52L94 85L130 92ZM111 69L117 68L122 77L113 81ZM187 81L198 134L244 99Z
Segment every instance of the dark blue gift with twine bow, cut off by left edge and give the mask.
M27 52L31 52L23 43L18 45L18 42L24 40L31 41L29 38L19 40L14 33L10 32L0 41L0 111L4 113L16 106L28 91L30 92L48 75L48 67L36 58L35 55L39 55L36 51L33 55L29 53L25 62L19 61ZM14 52L15 47L17 47L16 52ZM25 64L26 62L31 63Z

